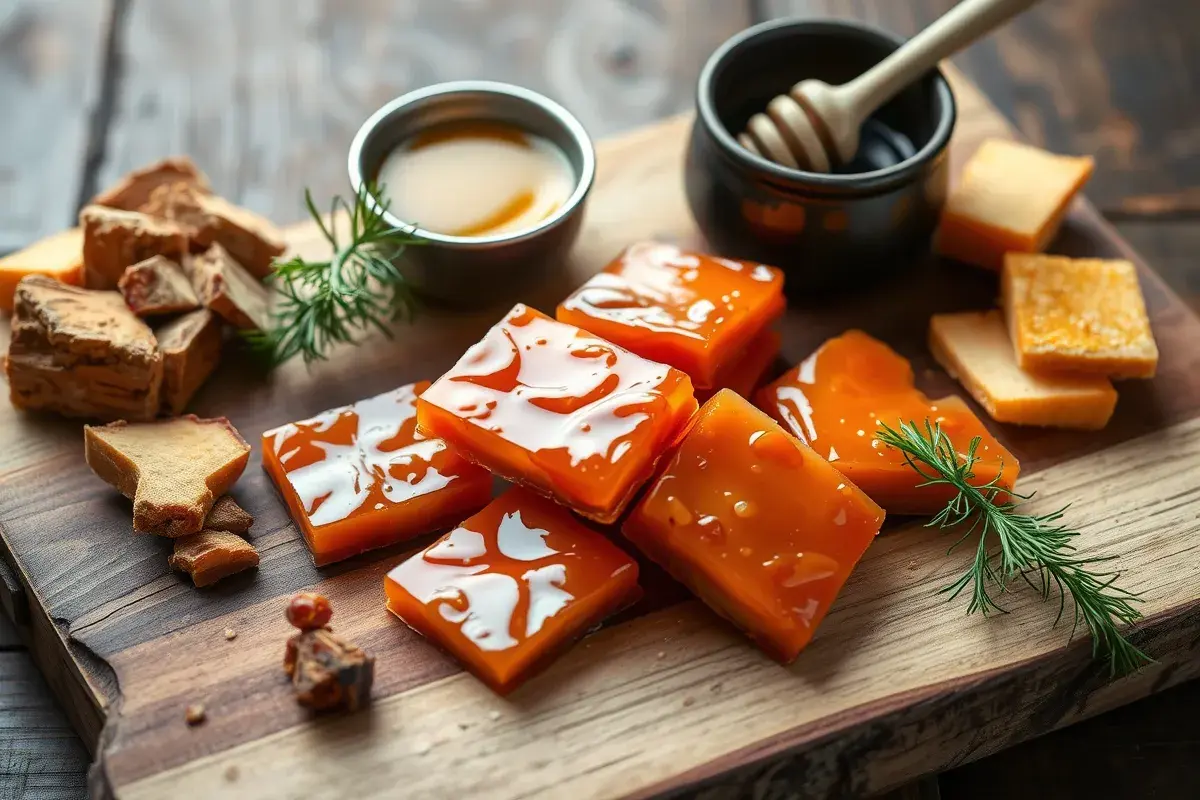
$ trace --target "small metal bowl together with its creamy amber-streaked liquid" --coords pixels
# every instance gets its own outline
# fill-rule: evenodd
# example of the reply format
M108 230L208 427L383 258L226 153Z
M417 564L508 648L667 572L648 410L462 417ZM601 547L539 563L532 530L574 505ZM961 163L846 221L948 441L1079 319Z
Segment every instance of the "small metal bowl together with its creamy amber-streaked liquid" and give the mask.
M510 84L460 80L398 97L350 145L350 185L422 243L397 266L426 299L497 305L566 265L595 151L565 108Z

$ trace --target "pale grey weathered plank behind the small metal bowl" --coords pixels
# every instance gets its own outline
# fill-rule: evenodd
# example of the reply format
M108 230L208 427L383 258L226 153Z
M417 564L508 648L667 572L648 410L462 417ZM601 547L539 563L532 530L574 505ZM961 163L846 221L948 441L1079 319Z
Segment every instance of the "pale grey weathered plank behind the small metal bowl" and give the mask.
M294 222L306 186L346 192L350 138L404 91L509 80L604 136L689 107L708 53L749 22L740 0L133 0L101 182L186 152L221 193Z

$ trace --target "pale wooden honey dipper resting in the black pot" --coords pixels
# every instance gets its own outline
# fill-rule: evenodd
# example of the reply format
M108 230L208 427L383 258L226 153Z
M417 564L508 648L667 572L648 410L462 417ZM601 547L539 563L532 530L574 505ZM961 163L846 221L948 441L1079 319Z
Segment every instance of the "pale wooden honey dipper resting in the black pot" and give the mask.
M841 86L808 79L755 114L738 143L793 169L828 173L858 152L858 131L880 106L1037 0L962 0L888 58Z

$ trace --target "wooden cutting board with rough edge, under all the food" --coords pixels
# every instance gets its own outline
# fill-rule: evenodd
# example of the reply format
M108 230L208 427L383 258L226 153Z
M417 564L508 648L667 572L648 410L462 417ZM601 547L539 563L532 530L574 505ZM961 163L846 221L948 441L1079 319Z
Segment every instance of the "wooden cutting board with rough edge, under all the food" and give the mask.
M956 166L1008 127L954 76ZM688 120L605 142L586 231L560 282L527 300L551 311L566 289L643 237L698 243L683 199ZM312 227L290 231L318 252ZM1136 257L1086 203L1054 247ZM923 387L958 387L931 362L935 311L994 305L995 276L928 263L840 300L793 303L782 356L793 363L858 326L911 357ZM83 463L80 426L0 409L0 533L12 576L4 600L84 739L94 790L180 796L724 796L803 790L842 798L959 764L1200 675L1200 320L1144 266L1162 349L1153 381L1121 385L1099 433L992 426L1022 463L1037 507L1074 504L1085 553L1120 557L1142 593L1134 639L1158 658L1115 682L1051 627L1030 591L1013 612L965 615L937 590L966 566L918 522L871 546L816 640L788 668L662 576L648 600L588 637L509 698L492 694L384 610L384 573L416 545L317 570L259 468L258 434L398 384L433 378L503 309L428 313L306 371L265 375L228 353L194 403L256 443L234 491L257 518L257 573L198 591L168 571L170 543L131 534L130 504ZM0 331L6 341L7 325ZM0 341L2 344L4 341ZM310 717L280 663L284 599L328 594L335 627L377 655L370 710ZM235 633L227 638L227 631ZM203 703L208 721L184 722Z

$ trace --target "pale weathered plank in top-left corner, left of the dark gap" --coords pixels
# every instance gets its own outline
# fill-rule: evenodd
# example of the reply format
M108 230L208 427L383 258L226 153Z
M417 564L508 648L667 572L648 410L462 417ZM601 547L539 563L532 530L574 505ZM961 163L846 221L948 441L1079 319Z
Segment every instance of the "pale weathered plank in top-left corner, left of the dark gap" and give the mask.
M0 5L0 253L74 218L110 2Z

